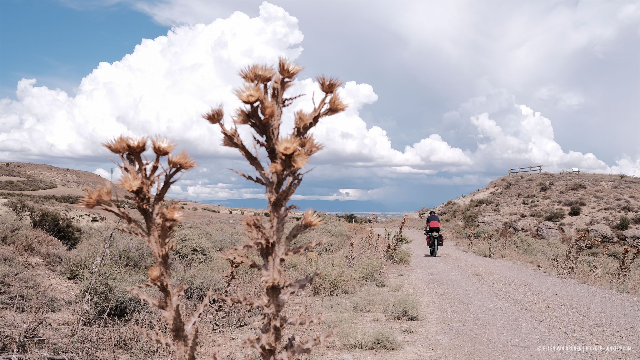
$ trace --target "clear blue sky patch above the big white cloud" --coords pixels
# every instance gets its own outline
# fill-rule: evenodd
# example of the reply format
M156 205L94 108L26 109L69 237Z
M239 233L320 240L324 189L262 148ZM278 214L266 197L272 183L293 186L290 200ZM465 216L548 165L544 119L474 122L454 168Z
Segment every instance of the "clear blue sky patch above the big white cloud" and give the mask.
M100 61L120 60L170 28L126 4L86 3L0 1L0 97L15 99L21 78L73 92Z

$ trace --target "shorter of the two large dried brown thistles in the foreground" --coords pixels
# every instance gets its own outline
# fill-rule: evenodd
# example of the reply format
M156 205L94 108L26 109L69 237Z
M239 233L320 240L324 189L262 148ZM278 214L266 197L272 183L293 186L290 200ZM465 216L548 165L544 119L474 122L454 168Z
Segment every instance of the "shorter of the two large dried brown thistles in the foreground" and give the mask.
M176 359L195 359L198 346L198 319L206 304L209 303L211 290L195 311L187 315L181 308L184 284L173 284L169 252L175 246L171 236L180 220L180 210L176 204L164 203L164 196L180 174L196 166L186 152L173 154L175 145L163 138L152 140L153 160L148 160L143 152L147 151L148 138L129 138L120 136L104 146L120 157L118 167L122 170L122 179L118 182L122 188L133 195L135 208L142 217L138 222L125 209L118 206L118 200L111 198L111 186L106 184L96 190L86 190L80 205L84 208L97 208L113 213L122 219L124 225L118 225L125 233L145 240L156 258L156 265L148 270L148 282L127 290L134 293L142 302L159 309L166 320L170 336L159 332L138 329L157 345L173 352ZM166 163L165 163L166 160ZM160 299L143 293L143 288L156 287Z

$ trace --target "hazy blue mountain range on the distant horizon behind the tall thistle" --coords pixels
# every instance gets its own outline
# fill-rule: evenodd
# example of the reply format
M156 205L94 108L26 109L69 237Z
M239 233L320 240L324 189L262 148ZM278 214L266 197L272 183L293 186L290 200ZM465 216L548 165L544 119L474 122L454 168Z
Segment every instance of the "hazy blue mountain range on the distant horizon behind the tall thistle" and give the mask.
M226 200L198 200L204 204L228 206L229 208L264 209L267 200L264 199L226 199ZM314 209L317 211L353 212L413 212L422 206L419 204L399 203L383 204L370 200L291 200L289 204L296 204L300 209Z

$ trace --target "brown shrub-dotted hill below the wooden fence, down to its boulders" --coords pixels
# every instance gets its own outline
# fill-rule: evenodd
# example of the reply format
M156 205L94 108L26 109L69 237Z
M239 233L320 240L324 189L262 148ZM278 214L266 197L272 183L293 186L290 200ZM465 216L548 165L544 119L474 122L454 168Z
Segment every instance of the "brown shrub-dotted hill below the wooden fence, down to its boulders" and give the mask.
M585 230L603 242L640 246L640 179L604 174L500 177L486 188L436 207L456 227L506 227L543 239Z

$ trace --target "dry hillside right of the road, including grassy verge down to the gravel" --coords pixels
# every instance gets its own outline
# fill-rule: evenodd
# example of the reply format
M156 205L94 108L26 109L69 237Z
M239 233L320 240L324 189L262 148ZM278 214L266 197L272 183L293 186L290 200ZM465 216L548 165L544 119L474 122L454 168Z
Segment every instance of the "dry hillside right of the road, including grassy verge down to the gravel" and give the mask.
M444 232L478 254L640 293L639 178L505 176L435 211Z

